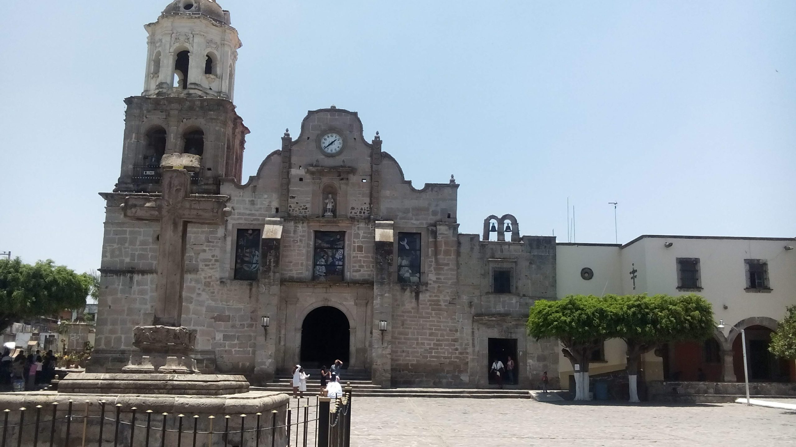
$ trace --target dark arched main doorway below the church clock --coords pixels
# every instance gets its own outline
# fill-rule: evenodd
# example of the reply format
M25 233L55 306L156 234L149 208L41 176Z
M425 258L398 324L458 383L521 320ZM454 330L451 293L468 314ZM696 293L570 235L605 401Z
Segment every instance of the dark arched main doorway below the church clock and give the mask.
M349 363L349 321L336 307L325 305L304 317L301 327L301 365L305 368L330 367L340 359Z

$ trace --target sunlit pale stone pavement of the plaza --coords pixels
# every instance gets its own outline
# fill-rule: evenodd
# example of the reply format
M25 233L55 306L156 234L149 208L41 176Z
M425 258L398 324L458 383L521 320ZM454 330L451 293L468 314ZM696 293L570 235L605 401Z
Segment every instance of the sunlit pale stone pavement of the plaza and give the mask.
M796 445L796 412L736 403L371 397L352 403L356 447Z

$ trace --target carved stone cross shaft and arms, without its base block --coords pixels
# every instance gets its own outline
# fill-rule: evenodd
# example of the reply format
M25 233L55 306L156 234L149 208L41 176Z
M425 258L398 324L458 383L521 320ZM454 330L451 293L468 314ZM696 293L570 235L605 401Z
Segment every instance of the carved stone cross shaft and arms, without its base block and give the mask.
M184 154L174 154L184 155ZM198 158L193 162L198 166ZM181 160L185 162L185 159ZM190 196L191 177L183 165L162 165L160 197L128 196L124 216L134 220L159 220L158 286L154 325L178 327L182 317L182 286L185 278L185 233L188 223L224 223L228 212L221 196ZM193 163L192 163L193 164Z

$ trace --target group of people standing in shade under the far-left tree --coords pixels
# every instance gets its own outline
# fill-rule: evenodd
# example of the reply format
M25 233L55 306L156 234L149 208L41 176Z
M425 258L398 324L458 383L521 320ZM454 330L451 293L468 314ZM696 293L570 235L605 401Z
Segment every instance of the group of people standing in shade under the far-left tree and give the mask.
M12 358L6 348L0 357L0 385L14 391L35 391L53 380L56 366L57 358L52 349L44 356L37 350L27 356L20 352Z

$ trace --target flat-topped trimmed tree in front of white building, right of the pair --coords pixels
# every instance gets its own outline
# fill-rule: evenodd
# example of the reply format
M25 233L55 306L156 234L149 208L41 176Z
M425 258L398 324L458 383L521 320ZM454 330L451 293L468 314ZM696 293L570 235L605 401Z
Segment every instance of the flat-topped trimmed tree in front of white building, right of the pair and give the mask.
M677 340L704 340L715 330L713 309L695 294L606 297L611 307L609 332L627 345L630 402L638 402L638 364L642 355Z

